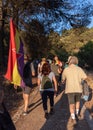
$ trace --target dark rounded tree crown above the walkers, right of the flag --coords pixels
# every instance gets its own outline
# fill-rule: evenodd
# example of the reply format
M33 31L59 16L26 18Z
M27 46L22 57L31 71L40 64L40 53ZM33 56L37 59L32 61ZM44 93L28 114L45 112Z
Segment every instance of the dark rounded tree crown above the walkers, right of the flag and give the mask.
M26 33L25 33L26 32ZM31 58L40 58L48 55L51 44L45 35L43 26L36 20L28 23L23 32L26 52Z

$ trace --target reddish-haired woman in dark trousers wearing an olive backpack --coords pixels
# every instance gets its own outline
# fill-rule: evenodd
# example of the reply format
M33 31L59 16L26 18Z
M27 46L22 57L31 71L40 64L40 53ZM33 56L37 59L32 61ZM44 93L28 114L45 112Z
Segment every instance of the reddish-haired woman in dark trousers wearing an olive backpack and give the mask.
M49 63L44 63L42 66L42 72L38 75L38 86L42 97L45 118L48 119L47 99L49 98L50 100L50 114L53 114L54 94L57 92L57 81Z

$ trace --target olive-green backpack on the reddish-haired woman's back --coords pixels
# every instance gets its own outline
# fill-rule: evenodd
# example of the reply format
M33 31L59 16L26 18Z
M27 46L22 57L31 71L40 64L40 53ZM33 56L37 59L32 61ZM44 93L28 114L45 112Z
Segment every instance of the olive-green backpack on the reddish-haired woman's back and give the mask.
M50 78L46 75L42 77L41 89L53 88Z

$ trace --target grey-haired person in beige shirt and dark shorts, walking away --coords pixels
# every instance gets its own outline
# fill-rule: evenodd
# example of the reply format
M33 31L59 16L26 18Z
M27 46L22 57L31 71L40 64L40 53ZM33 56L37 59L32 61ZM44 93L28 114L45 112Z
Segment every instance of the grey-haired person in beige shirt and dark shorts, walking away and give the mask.
M69 111L73 124L77 123L80 109L80 99L82 95L82 80L87 80L87 75L83 69L76 65L78 59L72 56L69 65L63 70L62 83L66 83L65 93L68 96Z

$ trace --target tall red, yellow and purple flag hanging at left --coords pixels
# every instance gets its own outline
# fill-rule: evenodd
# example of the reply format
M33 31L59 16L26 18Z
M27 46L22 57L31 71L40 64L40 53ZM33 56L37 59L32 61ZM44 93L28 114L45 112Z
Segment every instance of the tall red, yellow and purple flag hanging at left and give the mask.
M23 43L13 20L10 20L10 48L5 78L21 86L24 67Z

